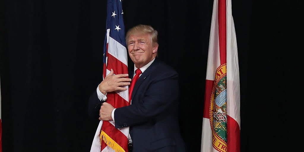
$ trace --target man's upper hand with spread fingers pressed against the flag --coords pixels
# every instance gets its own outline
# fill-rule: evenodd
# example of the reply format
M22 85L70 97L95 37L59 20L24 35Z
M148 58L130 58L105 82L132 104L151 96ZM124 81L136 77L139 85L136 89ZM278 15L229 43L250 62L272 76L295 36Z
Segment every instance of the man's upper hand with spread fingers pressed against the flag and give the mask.
M104 80L99 84L98 88L102 94L113 91L125 91L127 88L124 88L126 85L130 85L129 74L117 74L114 75L113 69L111 72L104 78Z

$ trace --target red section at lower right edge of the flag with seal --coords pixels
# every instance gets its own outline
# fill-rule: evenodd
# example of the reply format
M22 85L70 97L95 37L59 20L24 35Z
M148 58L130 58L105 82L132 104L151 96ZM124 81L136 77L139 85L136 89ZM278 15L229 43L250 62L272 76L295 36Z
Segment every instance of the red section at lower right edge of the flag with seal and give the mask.
M230 116L227 116L227 143L229 152L240 152L240 126Z

